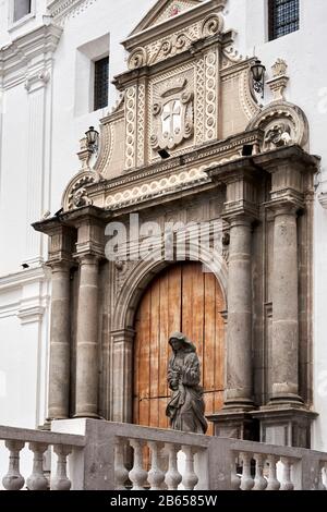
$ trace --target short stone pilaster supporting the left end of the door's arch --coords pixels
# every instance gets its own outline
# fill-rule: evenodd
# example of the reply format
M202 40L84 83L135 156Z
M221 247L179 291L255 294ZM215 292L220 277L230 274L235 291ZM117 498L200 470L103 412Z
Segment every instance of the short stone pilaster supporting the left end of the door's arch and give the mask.
M112 332L113 341L113 404L112 420L133 423L133 340L132 329Z

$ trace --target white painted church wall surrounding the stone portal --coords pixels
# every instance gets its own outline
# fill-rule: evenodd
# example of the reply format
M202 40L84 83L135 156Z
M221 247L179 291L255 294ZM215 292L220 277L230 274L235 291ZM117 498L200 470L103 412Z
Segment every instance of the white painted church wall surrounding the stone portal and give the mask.
M36 0L35 15L8 32L9 1L0 0L0 48L47 21L46 0ZM39 113L47 126L39 215L48 208L52 214L60 208L64 186L78 169L75 156L78 139L90 124L97 126L108 111L89 111L90 61L108 51L110 81L124 71L125 56L120 41L154 4L155 0L95 0L64 23L47 85L45 110ZM291 78L287 97L302 107L308 118L311 151L323 157L323 174L327 180L327 100L324 101L327 2L301 0L301 29L275 41L267 41L266 0L229 0L226 28L239 32L235 48L241 53L252 56L255 48L267 68L267 77L277 58L287 60ZM27 198L32 194L26 173L31 95L23 80L4 90L2 80L0 71L0 423L35 427L43 420L46 409L49 290L44 276L35 278L37 292L26 287L24 276L34 270L22 272L21 267L26 255ZM110 85L110 107L116 99L114 87ZM326 228L327 211L316 200L314 376L315 410L320 416L313 440L316 449L327 451ZM38 251L36 256L41 259L46 256L46 244L39 245ZM34 307L39 308L39 316ZM26 308L31 324L22 326L17 315Z

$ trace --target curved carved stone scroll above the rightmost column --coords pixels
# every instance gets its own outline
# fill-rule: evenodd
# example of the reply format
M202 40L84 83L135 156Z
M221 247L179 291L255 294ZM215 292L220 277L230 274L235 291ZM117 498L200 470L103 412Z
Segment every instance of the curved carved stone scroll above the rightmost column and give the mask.
M249 124L247 130L264 131L263 151L296 144L307 148L308 124L304 112L287 101L274 102L263 109Z

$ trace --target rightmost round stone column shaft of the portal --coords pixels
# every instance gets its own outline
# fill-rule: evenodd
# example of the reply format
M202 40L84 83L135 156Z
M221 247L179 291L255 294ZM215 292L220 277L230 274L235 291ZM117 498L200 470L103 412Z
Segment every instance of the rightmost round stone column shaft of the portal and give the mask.
M299 265L296 207L275 205L271 401L302 402L299 393Z

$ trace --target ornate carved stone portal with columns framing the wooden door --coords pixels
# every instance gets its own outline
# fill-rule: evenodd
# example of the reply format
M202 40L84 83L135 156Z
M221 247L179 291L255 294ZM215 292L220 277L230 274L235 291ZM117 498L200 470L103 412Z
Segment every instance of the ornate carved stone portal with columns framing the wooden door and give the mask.
M284 61L261 105L256 59L234 50L225 4L159 1L141 21L96 162L83 139L62 210L34 224L50 243L48 417L166 427L168 337L181 330L199 353L211 434L308 448L319 158L284 99ZM164 233L156 257L140 257L136 236L108 260L108 227L129 232L136 214ZM182 261L190 223L208 227L206 244L193 251L187 233Z

